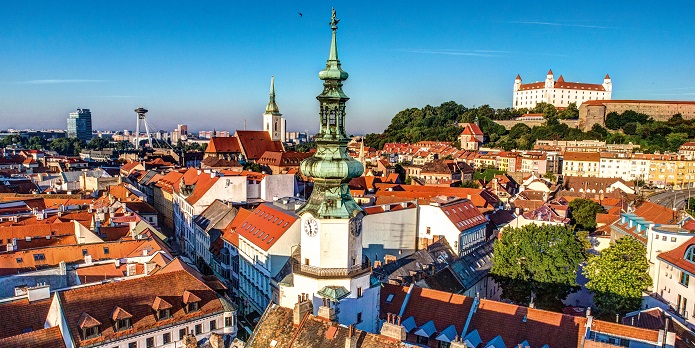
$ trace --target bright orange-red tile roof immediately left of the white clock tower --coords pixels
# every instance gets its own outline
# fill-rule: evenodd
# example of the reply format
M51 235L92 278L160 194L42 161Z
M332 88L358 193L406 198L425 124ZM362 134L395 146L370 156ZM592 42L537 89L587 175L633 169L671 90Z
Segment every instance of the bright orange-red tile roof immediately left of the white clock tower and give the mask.
M271 203L265 203L249 214L236 228L236 232L259 248L268 251L297 219L296 215L289 215L275 208Z

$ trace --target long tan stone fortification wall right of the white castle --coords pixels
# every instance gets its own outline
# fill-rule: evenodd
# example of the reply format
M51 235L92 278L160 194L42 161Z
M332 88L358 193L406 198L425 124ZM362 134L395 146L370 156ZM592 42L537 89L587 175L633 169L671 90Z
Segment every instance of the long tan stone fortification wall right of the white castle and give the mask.
M579 106L578 126L584 131L590 130L594 124L605 126L606 115L627 110L647 114L656 121L667 121L675 114L683 115L686 120L695 119L693 101L594 100Z

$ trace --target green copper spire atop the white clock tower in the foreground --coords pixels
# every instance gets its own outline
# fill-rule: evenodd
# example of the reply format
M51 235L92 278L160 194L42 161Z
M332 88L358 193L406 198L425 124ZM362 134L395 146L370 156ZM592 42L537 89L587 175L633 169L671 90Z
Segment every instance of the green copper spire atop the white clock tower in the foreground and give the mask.
M348 182L364 172L362 164L348 155L350 140L345 132L345 103L350 99L343 93L343 81L348 74L340 67L336 30L339 20L335 9L331 17L331 51L326 69L319 73L323 92L319 101L320 129L314 136L316 153L301 164L302 173L314 180L314 191L297 213L309 212L318 218L351 218L362 212L350 195Z

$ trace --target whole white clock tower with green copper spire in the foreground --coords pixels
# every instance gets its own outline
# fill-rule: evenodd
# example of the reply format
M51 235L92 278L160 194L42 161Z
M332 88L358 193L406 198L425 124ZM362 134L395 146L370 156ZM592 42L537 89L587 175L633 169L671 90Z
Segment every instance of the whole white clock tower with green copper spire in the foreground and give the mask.
M348 182L364 171L348 155L343 81L348 73L338 60L335 10L331 18L331 48L326 68L319 72L323 92L319 101L320 129L316 153L301 164L314 190L298 211L301 241L292 275L280 284L280 305L293 308L306 296L314 314L358 329L375 332L379 314L378 285L371 282L371 262L362 255L364 212L350 195Z

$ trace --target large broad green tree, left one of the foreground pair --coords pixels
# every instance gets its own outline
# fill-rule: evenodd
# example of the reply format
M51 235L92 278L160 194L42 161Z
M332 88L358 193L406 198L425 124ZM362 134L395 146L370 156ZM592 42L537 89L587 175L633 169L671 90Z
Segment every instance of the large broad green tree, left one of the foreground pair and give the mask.
M586 258L586 234L569 226L526 225L507 228L494 244L493 279L502 297L539 308L562 308L562 300L576 291L576 271Z

